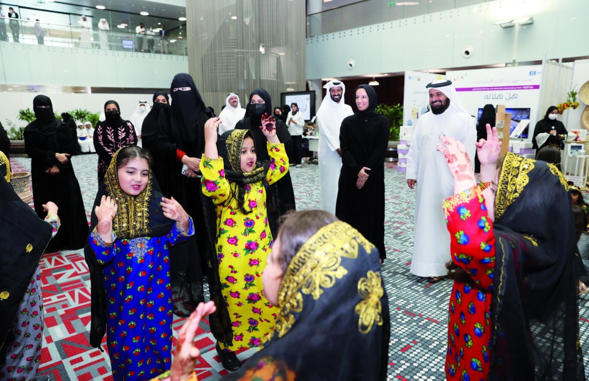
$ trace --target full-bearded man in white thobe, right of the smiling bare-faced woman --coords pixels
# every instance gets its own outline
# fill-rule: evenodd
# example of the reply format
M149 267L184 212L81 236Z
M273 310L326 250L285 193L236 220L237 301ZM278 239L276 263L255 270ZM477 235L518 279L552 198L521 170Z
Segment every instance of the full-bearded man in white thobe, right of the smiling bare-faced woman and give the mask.
M451 260L442 202L454 194L454 180L436 144L444 135L454 137L474 163L477 128L452 81L434 81L426 88L431 112L419 117L407 157L407 184L417 187L411 273L438 281L448 273L446 263Z

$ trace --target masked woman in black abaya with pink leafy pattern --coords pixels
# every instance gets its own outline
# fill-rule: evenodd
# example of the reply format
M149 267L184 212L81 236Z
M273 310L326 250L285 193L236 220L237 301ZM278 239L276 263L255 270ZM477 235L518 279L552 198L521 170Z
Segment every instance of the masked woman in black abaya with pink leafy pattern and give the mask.
M107 173L112 155L119 148L137 145L135 128L128 120L121 118L121 109L116 101L104 104L105 120L99 121L94 131L94 148L98 153L98 185Z

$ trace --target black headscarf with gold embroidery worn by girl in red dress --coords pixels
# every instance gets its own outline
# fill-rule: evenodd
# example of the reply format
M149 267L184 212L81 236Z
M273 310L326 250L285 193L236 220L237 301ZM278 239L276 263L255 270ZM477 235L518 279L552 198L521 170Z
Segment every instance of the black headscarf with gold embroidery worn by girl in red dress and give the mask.
M505 157L495 198L489 380L585 379L567 190L554 164Z

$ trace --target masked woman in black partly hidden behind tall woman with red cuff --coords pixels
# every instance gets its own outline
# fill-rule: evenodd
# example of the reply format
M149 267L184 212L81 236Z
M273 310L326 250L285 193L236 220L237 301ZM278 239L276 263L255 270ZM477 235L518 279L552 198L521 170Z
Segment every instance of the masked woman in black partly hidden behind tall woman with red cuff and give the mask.
M153 95L153 107L141 126L141 139L143 140L143 148L149 150L154 159L154 164L151 166L151 171L155 178L160 183L161 191L163 194L170 194L167 188L167 184L163 183L163 173L166 171L165 164L162 160L157 157L157 131L158 131L158 120L160 114L165 114L165 117L169 120L170 118L170 96L165 91L156 91Z

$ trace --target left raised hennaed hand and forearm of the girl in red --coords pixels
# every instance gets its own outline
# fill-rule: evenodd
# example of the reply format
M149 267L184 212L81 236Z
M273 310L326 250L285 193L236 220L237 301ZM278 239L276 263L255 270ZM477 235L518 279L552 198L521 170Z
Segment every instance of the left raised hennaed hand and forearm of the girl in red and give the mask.
M477 185L464 144L453 137L442 137L440 141L442 144L436 144L436 148L444 154L448 170L454 177L454 192L459 193Z

